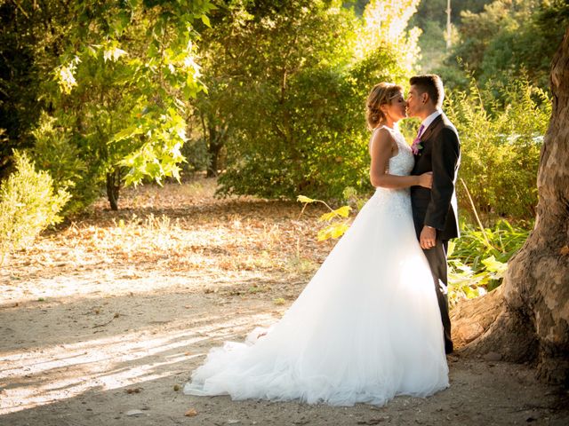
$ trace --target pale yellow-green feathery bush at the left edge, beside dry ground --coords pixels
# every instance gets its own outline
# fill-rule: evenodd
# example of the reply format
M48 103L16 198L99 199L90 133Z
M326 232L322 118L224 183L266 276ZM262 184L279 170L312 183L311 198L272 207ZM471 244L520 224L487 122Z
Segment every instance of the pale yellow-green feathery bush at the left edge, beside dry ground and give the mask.
M25 248L47 226L60 222L58 213L69 194L53 190L52 177L37 172L26 154L14 152L16 171L0 185L0 258ZM1 263L1 262L0 262Z

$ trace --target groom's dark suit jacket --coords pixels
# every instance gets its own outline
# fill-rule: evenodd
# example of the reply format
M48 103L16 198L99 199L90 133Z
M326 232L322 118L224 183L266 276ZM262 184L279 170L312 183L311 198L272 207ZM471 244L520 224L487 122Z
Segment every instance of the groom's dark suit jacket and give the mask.
M454 184L461 163L461 143L445 114L437 116L423 132L421 146L411 174L432 171L433 187L411 187L415 231L419 236L423 225L428 225L437 228L437 239L457 238L459 220Z

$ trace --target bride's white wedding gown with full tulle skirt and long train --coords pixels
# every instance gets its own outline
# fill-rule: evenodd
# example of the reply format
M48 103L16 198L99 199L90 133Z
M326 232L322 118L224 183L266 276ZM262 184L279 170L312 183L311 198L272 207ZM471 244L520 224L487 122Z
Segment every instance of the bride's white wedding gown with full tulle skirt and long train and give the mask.
M408 175L413 154L389 173ZM443 329L408 189L378 188L316 275L267 335L210 351L189 395L382 405L448 386Z

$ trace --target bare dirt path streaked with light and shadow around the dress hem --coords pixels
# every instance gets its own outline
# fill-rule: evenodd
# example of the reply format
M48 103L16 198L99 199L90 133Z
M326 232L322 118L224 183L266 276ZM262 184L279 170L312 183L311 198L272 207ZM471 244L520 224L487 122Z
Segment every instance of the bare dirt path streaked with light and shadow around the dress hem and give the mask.
M115 318L121 310L124 315ZM477 359L453 359L450 389L426 399L397 397L382 407L236 402L185 396L175 389L210 348L242 341L253 327L267 326L283 310L260 297L180 288L4 308L0 324L15 334L1 343L0 424L560 426L569 421L566 393L535 383L529 367ZM139 412L128 415L132 410ZM185 416L188 410L196 415Z

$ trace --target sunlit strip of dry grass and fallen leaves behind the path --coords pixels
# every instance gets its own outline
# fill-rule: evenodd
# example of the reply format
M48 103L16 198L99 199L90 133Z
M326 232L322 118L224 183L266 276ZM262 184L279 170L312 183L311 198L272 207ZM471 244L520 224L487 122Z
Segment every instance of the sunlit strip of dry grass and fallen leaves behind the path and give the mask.
M244 272L264 281L306 282L333 247L333 241L316 241L317 217L324 211L318 206L299 217L300 203L218 199L215 185L214 179L196 178L127 189L119 211L101 199L88 215L13 254L3 275L15 286L101 271L106 280L150 272L199 275L213 287ZM263 289L252 285L246 291Z

